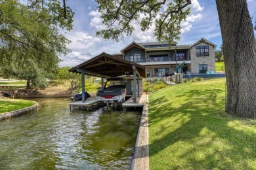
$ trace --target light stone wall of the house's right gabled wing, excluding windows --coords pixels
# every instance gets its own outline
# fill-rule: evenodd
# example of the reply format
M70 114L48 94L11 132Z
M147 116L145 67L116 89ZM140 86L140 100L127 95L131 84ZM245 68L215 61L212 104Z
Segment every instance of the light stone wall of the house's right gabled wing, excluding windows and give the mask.
M196 46L209 46L209 56L196 56ZM191 48L191 72L199 73L199 65L207 64L207 71L215 71L215 48L206 43L199 43Z

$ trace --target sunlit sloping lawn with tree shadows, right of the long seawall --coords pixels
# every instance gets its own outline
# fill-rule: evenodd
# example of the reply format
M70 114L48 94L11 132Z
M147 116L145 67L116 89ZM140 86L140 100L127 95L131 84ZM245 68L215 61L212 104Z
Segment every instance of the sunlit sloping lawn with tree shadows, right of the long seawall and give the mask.
M256 120L224 112L225 79L149 95L150 169L256 169Z

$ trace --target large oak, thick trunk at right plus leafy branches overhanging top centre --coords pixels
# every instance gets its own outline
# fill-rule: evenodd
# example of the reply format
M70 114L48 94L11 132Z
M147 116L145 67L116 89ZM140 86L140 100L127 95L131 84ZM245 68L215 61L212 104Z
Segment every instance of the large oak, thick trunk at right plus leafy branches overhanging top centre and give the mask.
M142 31L153 23L158 41L169 42L179 39L180 23L186 19L190 0L167 1L112 1L96 0L106 29L96 35L104 39L119 41L131 35L133 20L140 14ZM246 118L256 118L256 51L253 24L246 0L216 0L226 69L227 100L226 112ZM165 7L163 7L165 5ZM154 20L156 18L156 20ZM232 25L232 27L230 27Z

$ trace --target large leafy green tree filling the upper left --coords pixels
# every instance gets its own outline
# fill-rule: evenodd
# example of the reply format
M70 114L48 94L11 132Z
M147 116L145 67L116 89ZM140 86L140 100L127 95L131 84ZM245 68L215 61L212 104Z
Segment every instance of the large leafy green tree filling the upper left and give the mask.
M66 13L66 18L64 18ZM70 31L74 13L56 1L18 0L0 3L0 67L7 76L28 80L33 86L45 86L45 78L56 73L60 54L70 52L69 43L58 27Z

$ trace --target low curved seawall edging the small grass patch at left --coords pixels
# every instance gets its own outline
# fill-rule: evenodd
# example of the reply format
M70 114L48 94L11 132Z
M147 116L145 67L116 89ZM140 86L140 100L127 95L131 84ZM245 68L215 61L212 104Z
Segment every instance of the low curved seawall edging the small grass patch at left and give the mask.
M39 107L39 103L35 103L35 105L33 105L32 107L27 107L27 108L20 109L20 110L14 110L14 111L11 111L11 112L2 113L2 114L0 114L0 120L4 120L4 119L7 119L7 118L12 118L12 117L15 117L15 116L19 116L21 114L25 114L27 112L31 112L33 110L36 110L38 107Z

